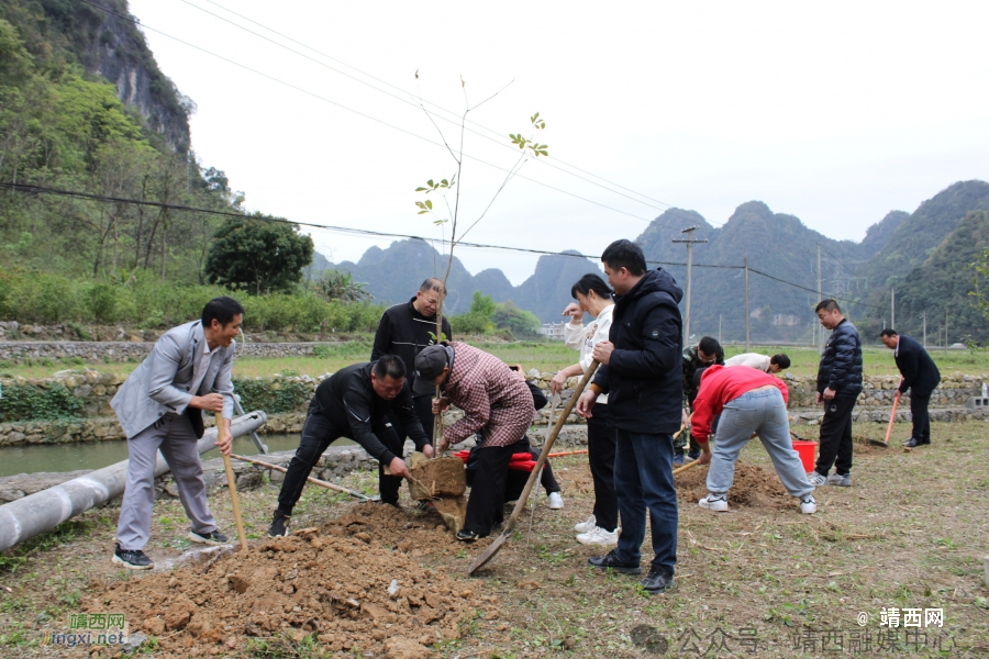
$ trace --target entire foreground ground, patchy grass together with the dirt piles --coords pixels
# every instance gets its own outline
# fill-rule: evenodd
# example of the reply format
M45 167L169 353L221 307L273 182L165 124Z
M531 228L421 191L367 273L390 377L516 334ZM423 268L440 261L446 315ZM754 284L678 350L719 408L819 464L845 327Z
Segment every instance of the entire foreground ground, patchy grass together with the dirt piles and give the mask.
M816 427L794 429L816 437ZM855 435L885 429L859 424ZM676 585L653 596L632 577L589 568L602 550L574 540L593 501L586 456L554 460L565 509L548 510L541 492L531 532L526 512L476 578L466 570L487 540L457 544L408 499L399 512L308 487L292 527L319 535L271 543L263 536L277 485L243 492L257 539L246 559L224 556L205 576L201 562L168 569L189 548L178 502L156 505L147 551L159 570L149 574L109 560L119 510L90 511L3 555L0 656L92 656L41 645L44 632L68 632L69 615L87 607L115 607L130 625L164 624L158 634L151 623L141 650L163 657L986 657L989 424L933 424L932 435L932 447L909 453L856 444L854 487L820 488L815 515L781 494L757 442L742 454L727 513L699 509L704 470L685 472ZM355 473L345 484L371 492L375 480ZM229 498L211 505L234 535ZM388 594L392 579L404 600ZM890 607L941 608L943 626L880 626Z

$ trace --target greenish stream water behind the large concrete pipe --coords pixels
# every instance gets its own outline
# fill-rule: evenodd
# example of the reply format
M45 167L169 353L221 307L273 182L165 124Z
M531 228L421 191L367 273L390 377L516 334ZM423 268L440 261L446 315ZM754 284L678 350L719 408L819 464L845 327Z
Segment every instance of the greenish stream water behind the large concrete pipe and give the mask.
M295 450L299 447L299 435L259 435L269 453ZM349 439L337 439L334 446L354 444ZM251 435L234 439L235 454L253 456L259 451ZM220 451L210 451L204 459L219 458ZM0 448L0 477L38 471L75 471L77 469L102 469L127 459L127 443L76 442L71 444L29 444Z

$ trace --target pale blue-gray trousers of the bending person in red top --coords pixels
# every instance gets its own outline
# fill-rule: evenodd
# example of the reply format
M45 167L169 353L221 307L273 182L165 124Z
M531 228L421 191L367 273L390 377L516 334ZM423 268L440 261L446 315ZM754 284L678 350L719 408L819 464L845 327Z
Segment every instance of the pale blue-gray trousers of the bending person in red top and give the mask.
M777 388L747 391L730 401L718 422L714 455L708 470L708 491L724 494L735 481L735 460L742 448L756 433L776 467L784 487L793 496L814 491L807 480L803 463L790 440L787 404Z

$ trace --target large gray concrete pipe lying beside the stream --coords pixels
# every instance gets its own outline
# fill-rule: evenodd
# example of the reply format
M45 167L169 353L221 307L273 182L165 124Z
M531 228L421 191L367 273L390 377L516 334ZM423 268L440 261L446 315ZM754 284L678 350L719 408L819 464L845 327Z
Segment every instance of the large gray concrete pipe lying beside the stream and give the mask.
M234 437L246 435L265 425L268 415L251 412L233 420ZM199 440L199 454L216 448L216 428L207 429ZM158 451L155 477L168 471L168 463ZM87 473L86 476L42 490L0 506L0 551L52 530L66 520L102 505L123 494L127 483L127 460Z

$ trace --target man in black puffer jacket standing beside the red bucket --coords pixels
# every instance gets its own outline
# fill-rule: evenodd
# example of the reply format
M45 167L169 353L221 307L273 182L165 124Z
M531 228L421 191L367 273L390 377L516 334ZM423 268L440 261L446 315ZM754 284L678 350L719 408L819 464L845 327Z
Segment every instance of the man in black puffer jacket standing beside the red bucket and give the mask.
M823 300L814 309L831 337L818 367L816 404L824 404L821 448L810 484L852 485L852 409L862 393L862 339L855 325L845 320L834 300ZM834 473L827 476L831 467Z

